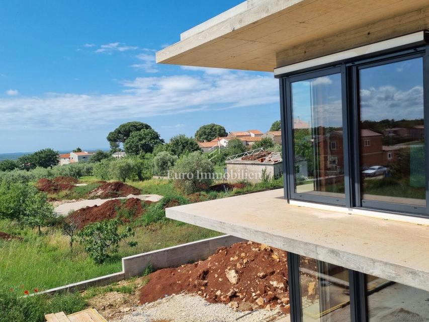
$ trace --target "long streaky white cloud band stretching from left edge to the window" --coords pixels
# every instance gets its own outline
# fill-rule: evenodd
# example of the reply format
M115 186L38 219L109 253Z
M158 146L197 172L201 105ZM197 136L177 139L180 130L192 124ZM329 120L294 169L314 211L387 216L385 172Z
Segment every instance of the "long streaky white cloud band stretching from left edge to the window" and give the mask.
M0 127L76 130L96 128L130 117L144 119L201 110L279 104L278 81L271 74L228 72L222 75L137 77L122 85L120 94L50 93L0 99Z

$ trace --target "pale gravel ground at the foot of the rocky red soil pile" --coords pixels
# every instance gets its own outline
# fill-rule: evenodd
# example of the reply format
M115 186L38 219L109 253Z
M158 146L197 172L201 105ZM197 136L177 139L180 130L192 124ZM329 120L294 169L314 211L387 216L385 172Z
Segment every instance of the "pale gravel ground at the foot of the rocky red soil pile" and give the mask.
M225 304L210 304L195 295L177 294L134 308L112 322L289 322L279 309L239 312Z

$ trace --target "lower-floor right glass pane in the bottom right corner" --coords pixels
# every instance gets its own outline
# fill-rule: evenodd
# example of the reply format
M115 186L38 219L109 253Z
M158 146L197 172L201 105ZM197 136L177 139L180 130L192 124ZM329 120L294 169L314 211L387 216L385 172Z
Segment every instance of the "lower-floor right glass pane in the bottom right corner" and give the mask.
M369 322L429 322L429 292L367 275Z

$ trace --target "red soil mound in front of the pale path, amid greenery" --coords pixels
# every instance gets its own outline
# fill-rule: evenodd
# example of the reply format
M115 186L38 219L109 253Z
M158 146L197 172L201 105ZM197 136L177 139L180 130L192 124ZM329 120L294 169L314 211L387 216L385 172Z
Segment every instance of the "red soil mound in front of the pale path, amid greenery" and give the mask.
M151 204L151 201L143 201L145 204ZM85 207L73 212L66 220L75 222L77 229L84 226L103 220L116 218L121 209L127 209L128 214L133 217L139 217L144 213L142 201L137 198L129 198L125 200L113 199L106 201L100 206ZM124 222L128 222L130 218L121 217Z

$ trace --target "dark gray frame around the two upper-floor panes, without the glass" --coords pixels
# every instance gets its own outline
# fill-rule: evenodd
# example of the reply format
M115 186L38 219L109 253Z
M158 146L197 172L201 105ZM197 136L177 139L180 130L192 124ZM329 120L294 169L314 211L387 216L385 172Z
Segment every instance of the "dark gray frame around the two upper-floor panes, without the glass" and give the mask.
M316 66L311 69L278 75L280 78L280 99L282 117L283 163L285 198L288 200L307 201L335 206L355 207L376 211L400 213L411 216L429 216L429 126L424 129L425 160L426 160L426 206L413 206L398 203L362 200L360 193L360 163L359 163L359 68L370 65L382 65L395 61L423 58L423 104L424 120L429 123L429 46L415 44L414 46L392 48L371 55L355 57L353 60L333 62L329 65ZM322 197L295 193L295 174L293 168L293 115L291 83L313 77L341 73L341 94L343 111L343 147L345 172L345 198Z

